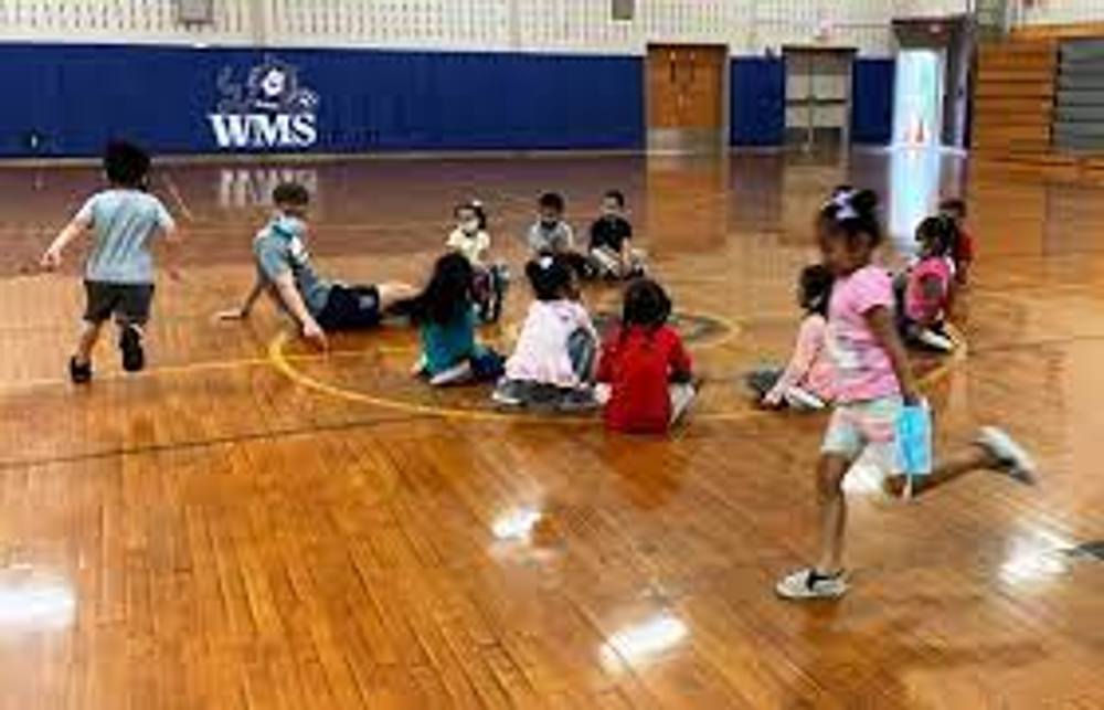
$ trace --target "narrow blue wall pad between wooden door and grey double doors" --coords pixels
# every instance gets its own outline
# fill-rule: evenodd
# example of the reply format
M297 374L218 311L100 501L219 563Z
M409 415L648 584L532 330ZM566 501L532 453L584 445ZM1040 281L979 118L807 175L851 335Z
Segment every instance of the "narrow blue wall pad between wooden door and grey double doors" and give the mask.
M733 146L781 146L786 131L786 63L737 57L731 67Z

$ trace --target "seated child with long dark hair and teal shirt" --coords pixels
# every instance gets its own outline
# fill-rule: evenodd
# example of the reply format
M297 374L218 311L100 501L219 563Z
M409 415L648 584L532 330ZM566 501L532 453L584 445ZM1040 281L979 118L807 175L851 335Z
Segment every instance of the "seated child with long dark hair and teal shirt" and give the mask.
M444 386L497 380L502 359L476 341L471 264L458 253L437 259L429 284L402 305L417 325L422 356L414 373Z

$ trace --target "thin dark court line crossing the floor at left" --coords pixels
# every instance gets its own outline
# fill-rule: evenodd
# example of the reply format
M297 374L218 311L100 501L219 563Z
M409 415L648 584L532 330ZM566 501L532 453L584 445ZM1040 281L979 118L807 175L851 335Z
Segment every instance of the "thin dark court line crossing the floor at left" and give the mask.
M212 446L225 446L229 444L242 444L246 442L258 442L277 439L294 436L311 436L315 434L349 432L355 430L371 430L391 424L412 424L418 421L440 421L439 416L432 414L406 414L403 416L390 416L374 420L354 420L341 422L339 424L317 424L310 426L296 426L268 432L254 432L252 434L238 434L234 436L215 436L205 439L193 439L185 442L173 442L171 444L149 444L146 446L131 446L123 448L102 449L98 452L86 452L83 454L68 454L64 456L47 456L44 458L10 458L0 460L0 471L17 468L35 468L40 466L79 464L91 460L103 460L107 458L126 458L128 456L146 456L149 454L168 454L198 448L210 448Z

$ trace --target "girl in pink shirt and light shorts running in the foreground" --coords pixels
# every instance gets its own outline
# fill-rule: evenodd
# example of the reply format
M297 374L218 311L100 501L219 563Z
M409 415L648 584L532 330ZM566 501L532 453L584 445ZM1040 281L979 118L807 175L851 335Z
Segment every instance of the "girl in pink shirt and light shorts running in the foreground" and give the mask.
M835 225L821 239L825 262L836 275L828 315L828 337L837 368L837 404L817 470L819 553L813 566L776 585L787 600L837 598L847 590L843 534L847 500L842 481L863 453L890 477L887 490L900 495L906 478L895 475L895 431L903 404L920 402L916 381L898 337L893 287L885 269L871 264L882 241L878 198L861 191L835 199L822 216ZM1034 465L1008 434L985 427L968 451L914 479L923 494L970 471L991 469L1023 484L1034 480Z

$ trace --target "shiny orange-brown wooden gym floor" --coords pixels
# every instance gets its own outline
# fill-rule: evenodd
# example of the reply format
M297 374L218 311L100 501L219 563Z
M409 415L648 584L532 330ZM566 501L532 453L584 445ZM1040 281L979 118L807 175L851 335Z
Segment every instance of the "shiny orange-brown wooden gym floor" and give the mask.
M941 441L1001 423L1040 488L983 474L894 505L859 476L852 594L772 594L814 543L824 420L756 413L736 381L787 353L813 211L849 180L907 223L968 172L847 162L163 167L187 278L159 287L149 371L121 377L105 342L82 391L79 255L29 265L98 176L0 169L0 709L1104 708L1104 565L1065 552L1104 538L1098 188L970 176L969 349L917 363ZM214 324L285 173L316 191L314 251L348 280L421 280L471 195L518 272L535 193L565 191L582 227L623 188L709 378L693 420L649 441L502 416L411 382L402 329L319 357L267 305ZM519 284L486 339L526 303Z

